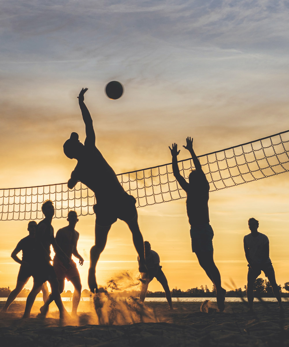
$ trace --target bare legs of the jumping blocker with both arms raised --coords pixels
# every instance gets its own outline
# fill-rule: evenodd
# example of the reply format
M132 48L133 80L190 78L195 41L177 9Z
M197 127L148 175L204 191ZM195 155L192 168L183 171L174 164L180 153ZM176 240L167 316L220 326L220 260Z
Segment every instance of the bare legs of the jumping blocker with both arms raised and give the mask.
M213 251L212 252L196 252L196 256L198 258L199 264L205 270L205 272L210 274L209 278L214 283L216 288L216 299L219 307L219 311L224 311L225 305L225 297L224 294L226 290L221 286L221 276L218 268L213 259Z

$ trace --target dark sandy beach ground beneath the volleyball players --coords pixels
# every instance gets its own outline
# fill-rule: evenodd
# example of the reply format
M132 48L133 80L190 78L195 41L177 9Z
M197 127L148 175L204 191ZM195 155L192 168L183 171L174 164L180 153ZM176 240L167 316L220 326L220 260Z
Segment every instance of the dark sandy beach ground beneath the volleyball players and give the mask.
M129 318L143 322L121 325L96 325L93 302L80 302L79 320L69 322L59 320L55 305L46 319L37 318L40 305L36 302L31 318L24 320L23 302L0 313L1 346L289 346L287 302L283 314L277 303L255 303L254 314L243 303L226 303L223 313L200 312L201 303L177 302L174 311L167 303L145 303L143 316ZM65 307L71 311L71 302Z

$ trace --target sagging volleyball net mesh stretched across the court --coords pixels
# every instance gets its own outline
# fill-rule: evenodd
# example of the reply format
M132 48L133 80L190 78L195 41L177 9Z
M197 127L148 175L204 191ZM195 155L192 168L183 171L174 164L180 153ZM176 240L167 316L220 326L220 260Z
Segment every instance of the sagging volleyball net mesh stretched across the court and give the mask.
M229 188L289 170L289 130L256 141L199 156L210 191ZM179 161L180 173L188 178L192 159ZM136 207L160 204L186 197L172 174L171 163L117 175ZM42 203L54 202L54 218L93 214L93 192L82 183L69 190L67 183L37 187L0 189L0 220L42 219Z

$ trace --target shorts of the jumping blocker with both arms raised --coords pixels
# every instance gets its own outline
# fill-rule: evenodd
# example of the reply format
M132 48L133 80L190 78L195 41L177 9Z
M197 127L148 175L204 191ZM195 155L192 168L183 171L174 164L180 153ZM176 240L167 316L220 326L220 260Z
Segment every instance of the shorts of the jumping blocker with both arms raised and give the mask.
M192 225L190 229L192 252L212 252L214 231L209 223Z

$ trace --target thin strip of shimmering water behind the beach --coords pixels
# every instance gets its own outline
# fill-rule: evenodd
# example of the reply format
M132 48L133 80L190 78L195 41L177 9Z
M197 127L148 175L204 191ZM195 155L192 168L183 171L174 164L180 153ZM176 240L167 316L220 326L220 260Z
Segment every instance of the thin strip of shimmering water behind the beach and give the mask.
M72 298L61 298L63 302L71 301ZM243 298L247 301L247 298ZM7 298L0 298L0 302L6 302ZM81 301L90 301L91 298L81 298ZM216 302L216 298L172 298L172 302L204 302L205 300L210 300ZM267 302L277 302L275 298L262 298L263 301ZM16 298L16 302L25 302L26 298ZM36 298L35 301L43 301L42 298ZM145 298L146 302L167 302L166 298ZM258 299L254 299L255 302L258 302ZM288 301L288 298L282 298L282 301ZM231 298L226 297L226 302L242 302L241 298Z

